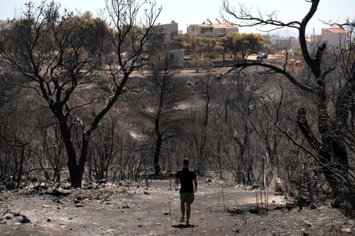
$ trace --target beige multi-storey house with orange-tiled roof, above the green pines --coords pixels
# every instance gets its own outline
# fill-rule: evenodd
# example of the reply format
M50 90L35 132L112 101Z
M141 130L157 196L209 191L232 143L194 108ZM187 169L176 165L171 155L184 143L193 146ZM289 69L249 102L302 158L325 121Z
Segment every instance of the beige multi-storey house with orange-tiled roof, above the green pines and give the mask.
M226 36L233 32L238 32L238 28L231 24L221 23L218 19L215 19L218 23L213 24L207 19L209 24L203 22L202 24L191 24L187 27L187 36L189 38L197 37L211 37L218 40L219 37Z

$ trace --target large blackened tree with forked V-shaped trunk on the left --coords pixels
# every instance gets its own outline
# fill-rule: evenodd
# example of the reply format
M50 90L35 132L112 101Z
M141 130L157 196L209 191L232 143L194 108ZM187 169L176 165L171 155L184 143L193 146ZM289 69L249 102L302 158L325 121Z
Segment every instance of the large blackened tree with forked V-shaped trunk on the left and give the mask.
M149 5L149 4L148 4ZM135 0L106 1L109 25L103 20L105 34L91 40L92 21L64 10L54 1L26 5L24 16L1 31L0 61L18 75L10 85L31 88L50 109L59 123L68 156L71 185L81 187L90 138L116 100L125 94L131 74L142 69L154 54L144 50L161 8L154 1L145 8ZM137 31L144 28L145 31ZM129 50L124 42L130 42ZM92 86L104 85L93 91ZM91 105L98 112L87 112ZM89 114L88 114L89 113ZM74 141L74 127L81 136ZM79 145L76 145L78 143Z

